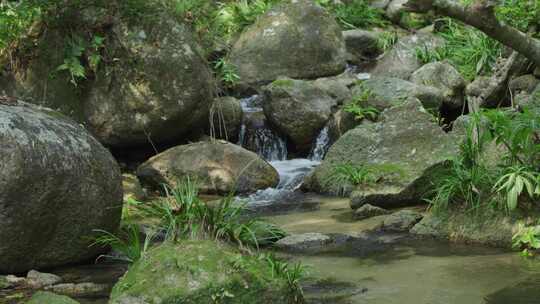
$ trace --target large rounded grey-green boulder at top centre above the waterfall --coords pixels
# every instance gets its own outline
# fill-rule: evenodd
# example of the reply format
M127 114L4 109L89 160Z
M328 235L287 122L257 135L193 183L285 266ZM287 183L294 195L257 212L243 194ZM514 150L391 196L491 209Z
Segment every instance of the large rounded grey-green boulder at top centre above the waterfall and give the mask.
M310 0L288 0L260 17L229 55L241 86L278 76L317 78L345 69L345 42L334 17Z

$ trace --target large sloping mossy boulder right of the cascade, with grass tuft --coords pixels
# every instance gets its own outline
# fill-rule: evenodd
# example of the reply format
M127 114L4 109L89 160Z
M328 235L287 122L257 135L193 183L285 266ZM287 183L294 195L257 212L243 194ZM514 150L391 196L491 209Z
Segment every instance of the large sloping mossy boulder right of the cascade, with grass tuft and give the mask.
M336 178L336 167L357 166L368 172L371 182L354 188L354 209L364 204L383 208L418 204L457 154L459 142L459 136L445 133L420 101L412 99L383 112L380 122L345 133L315 170L311 185L319 192L350 188Z

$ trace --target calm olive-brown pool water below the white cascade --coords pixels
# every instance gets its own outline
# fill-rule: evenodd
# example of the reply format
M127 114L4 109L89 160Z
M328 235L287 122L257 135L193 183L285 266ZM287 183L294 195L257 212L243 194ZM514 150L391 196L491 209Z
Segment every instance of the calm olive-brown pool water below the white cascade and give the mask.
M372 229L383 219L354 221L345 199L304 199L318 201L319 208L268 219L290 233L345 234ZM340 301L314 303L540 303L540 264L527 261L515 252L425 240L397 242L372 250L365 247L369 245L352 245L332 253L295 254L289 258L308 265L313 278L357 287L348 296L340 297Z

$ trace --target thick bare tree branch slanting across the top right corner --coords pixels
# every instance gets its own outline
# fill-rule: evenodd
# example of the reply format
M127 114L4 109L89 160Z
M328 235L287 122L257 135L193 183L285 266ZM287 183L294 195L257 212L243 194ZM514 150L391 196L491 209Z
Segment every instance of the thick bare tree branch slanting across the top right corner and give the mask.
M409 0L405 7L415 13L434 11L473 26L489 37L521 53L540 67L540 40L511 27L495 16L496 1L477 0L464 6L455 0Z

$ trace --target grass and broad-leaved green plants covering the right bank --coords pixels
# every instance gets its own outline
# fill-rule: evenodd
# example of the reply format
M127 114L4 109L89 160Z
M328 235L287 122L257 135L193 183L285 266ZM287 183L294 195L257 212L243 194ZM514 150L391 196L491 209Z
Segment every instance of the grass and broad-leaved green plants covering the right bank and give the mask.
M510 214L538 207L539 131L537 113L529 109L470 115L460 154L449 173L437 179L433 211L444 213L456 204L468 213L488 208Z

